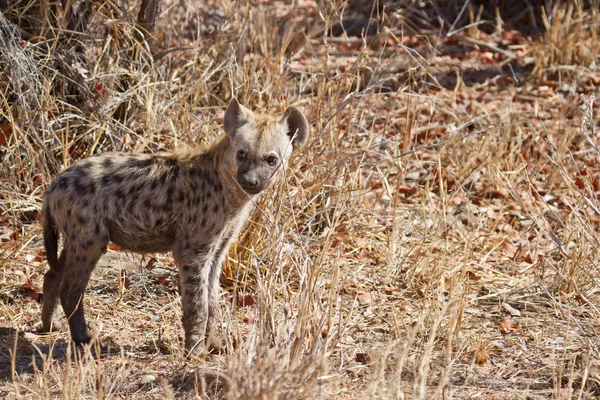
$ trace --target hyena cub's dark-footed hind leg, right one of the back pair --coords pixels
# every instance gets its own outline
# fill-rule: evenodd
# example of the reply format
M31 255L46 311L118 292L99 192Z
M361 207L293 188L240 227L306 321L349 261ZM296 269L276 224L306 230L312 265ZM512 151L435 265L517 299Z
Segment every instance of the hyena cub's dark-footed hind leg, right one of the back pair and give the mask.
M83 297L92 271L108 241L78 241L67 245L67 256L60 284L60 302L69 321L71 338L77 344L89 343L92 335L85 322Z

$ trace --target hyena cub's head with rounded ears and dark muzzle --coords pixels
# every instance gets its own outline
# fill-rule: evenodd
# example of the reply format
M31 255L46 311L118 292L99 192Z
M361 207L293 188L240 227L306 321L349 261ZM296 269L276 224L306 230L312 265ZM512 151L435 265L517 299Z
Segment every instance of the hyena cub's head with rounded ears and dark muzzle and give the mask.
M280 117L258 115L233 100L225 111L231 146L225 156L229 173L248 194L269 187L295 150L308 139L308 122L296 107Z

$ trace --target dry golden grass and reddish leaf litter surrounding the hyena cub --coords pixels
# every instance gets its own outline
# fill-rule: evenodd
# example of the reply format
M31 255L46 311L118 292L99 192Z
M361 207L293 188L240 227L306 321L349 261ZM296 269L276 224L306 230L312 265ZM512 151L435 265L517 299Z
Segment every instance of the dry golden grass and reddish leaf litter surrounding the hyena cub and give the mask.
M0 1L0 398L600 396L596 2L165 1L146 39L48 4ZM210 143L233 96L312 136L224 266L228 354L185 361L171 258L116 247L102 357L38 335L52 177Z

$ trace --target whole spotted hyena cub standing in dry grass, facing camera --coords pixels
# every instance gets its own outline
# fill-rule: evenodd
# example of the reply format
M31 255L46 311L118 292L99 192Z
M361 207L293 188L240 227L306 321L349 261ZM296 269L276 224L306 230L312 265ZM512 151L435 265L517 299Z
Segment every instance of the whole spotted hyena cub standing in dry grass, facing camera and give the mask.
M182 280L185 347L201 353L215 328L221 263L252 200L308 137L295 107L258 115L233 100L226 135L205 152L102 154L61 172L42 209L50 270L44 277L42 329L58 298L76 343L91 339L83 294L109 241L136 252L172 251ZM64 246L57 258L58 236Z

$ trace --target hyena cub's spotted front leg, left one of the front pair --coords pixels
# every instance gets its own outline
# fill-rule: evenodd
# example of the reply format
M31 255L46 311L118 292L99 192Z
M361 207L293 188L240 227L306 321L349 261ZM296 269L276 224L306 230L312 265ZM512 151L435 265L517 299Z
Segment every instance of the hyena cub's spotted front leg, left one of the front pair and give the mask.
M181 304L185 349L192 355L205 350L208 321L208 288L212 257L189 250L174 251L181 277Z

